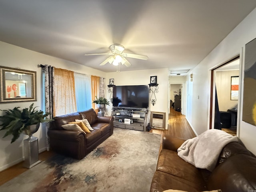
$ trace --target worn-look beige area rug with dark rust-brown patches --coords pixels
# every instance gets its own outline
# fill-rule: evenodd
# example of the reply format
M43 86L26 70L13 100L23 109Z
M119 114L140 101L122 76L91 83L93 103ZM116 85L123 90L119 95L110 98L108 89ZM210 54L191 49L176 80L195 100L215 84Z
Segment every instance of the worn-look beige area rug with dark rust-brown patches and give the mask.
M0 186L3 192L148 192L161 135L115 128L82 160L56 154Z

